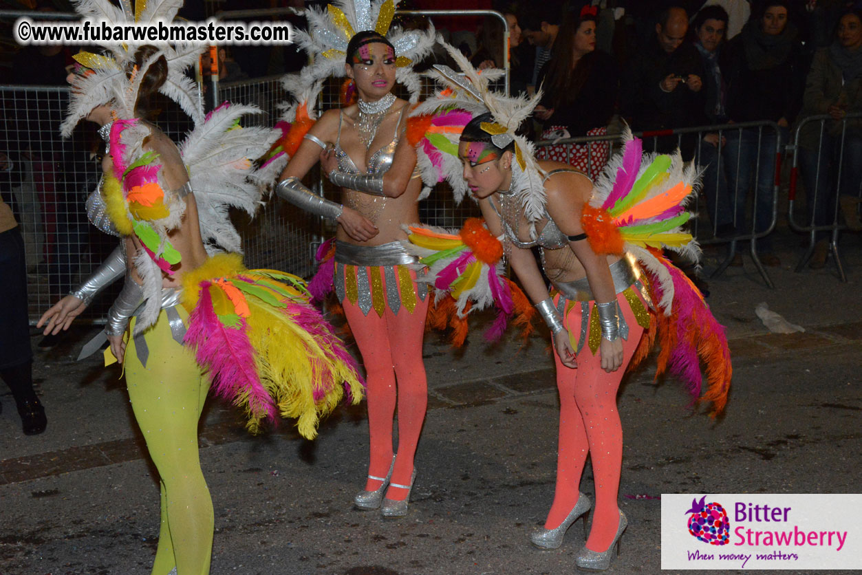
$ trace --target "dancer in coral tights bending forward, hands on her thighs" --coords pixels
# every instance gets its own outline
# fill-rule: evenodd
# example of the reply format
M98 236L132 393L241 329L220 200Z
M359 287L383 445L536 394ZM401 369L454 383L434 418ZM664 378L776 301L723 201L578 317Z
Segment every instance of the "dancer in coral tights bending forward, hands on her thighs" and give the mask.
M619 551L628 525L617 505L622 427L616 393L626 367L647 354L658 334L659 371L670 367L697 397L700 353L710 382L701 399L721 411L728 392L731 366L723 329L690 281L657 249L698 253L680 228L690 217L683 202L696 183L696 170L684 166L678 154L642 158L640 141L631 139L595 189L571 166L536 161L532 144L515 129L540 96L513 99L490 91L484 71L477 73L457 50L447 48L464 73L434 66L446 89L422 103L415 117L430 127L429 135L437 118L453 110L472 119L459 135L446 135L449 143L439 132L421 141L419 149L427 153L420 154L420 164L428 168L423 176L426 184L443 177L463 180L490 234L503 238L509 264L552 332L560 400L557 483L545 526L531 541L559 547L572 523L579 517L585 523L592 509L590 535L576 564L602 571L614 547ZM456 137L458 164L452 157ZM434 230L411 232L420 261L434 262L426 281L459 299L465 288L486 293L484 286L490 285L493 299L498 305L503 301L505 309L503 284L490 273L479 280L478 266L499 265L486 257L490 250L480 253L465 230L448 239ZM550 293L532 247L540 248L541 266L553 284ZM588 453L595 504L579 492Z

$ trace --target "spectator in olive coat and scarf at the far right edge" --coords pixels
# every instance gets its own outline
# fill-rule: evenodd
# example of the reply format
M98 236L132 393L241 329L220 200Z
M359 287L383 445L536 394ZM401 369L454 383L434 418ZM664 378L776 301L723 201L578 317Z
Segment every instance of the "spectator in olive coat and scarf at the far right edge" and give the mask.
M859 228L862 120L844 120L848 113L859 112L862 112L862 11L856 9L840 16L837 39L830 47L815 53L805 83L801 116L827 114L832 118L824 126L821 122L808 122L800 134L799 168L808 195L811 225L828 226L834 222L835 198L840 194L846 221L852 228ZM815 269L826 265L829 232L820 230L816 236L818 241L809 260L809 266Z

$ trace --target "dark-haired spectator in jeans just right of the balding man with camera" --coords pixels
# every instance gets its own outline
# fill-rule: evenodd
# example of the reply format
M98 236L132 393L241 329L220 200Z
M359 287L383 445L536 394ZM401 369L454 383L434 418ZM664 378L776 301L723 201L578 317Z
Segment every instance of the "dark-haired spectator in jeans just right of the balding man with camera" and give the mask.
M717 4L704 6L692 22L695 47L703 65L703 116L698 124L728 122L727 83L722 72L721 45L728 27L728 13ZM697 163L703 166L703 192L706 194L709 218L716 236L733 233L734 213L728 196L728 178L721 148L727 143L718 132L703 134L695 151Z

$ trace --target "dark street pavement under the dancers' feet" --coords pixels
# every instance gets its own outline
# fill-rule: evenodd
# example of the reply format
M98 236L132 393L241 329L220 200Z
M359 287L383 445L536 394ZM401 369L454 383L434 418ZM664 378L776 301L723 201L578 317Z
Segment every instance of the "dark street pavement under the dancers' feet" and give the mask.
M620 504L629 528L611 572L661 572L662 493L860 492L862 257L858 239L849 247L847 284L829 268L794 273L785 253L784 267L769 268L776 290L747 260L710 280L708 301L734 358L721 419L692 416L678 384L653 383L654 363L624 380ZM769 333L754 315L760 302L806 331ZM0 395L3 575L149 572L154 472L119 372L73 361L85 331L37 352L45 434L22 436L14 403ZM215 505L212 573L572 572L580 523L553 552L527 540L553 498L557 397L547 341L488 348L472 339L459 352L426 342L419 474L409 515L394 522L350 506L365 473L364 405L340 409L309 442L289 426L249 437L211 402L200 443ZM581 490L593 495L589 466Z

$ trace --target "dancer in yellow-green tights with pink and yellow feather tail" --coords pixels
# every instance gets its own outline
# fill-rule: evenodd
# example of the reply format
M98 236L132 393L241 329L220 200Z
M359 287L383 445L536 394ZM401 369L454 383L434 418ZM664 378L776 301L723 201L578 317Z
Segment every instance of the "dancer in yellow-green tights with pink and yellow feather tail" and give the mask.
M76 6L83 16L112 22L171 21L178 9L178 3L139 3L133 16L128 3ZM301 279L242 265L228 208L253 214L259 206L260 185L272 181L284 159L259 168L254 160L277 132L239 126L253 107L224 103L203 116L197 87L183 74L199 47L105 47L103 54L76 56L83 66L69 78L72 100L62 133L71 134L82 118L100 125L108 147L88 216L120 237L120 246L39 325L47 323L46 334L68 328L97 291L125 276L104 334L82 355L109 341L106 362L122 362L135 419L159 472L153 575L202 575L209 573L214 517L197 425L210 384L247 412L250 430L291 416L309 438L343 388L356 403L362 384ZM141 117L156 91L196 122L181 147Z

